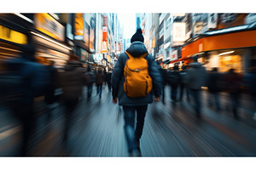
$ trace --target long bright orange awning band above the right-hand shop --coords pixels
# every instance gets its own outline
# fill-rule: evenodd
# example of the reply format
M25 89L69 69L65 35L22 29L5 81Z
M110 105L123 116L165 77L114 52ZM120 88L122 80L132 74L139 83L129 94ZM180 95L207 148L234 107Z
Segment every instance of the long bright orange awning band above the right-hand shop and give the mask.
M229 48L256 47L256 31L240 31L211 37L202 37L182 48L182 57L188 57L202 51Z

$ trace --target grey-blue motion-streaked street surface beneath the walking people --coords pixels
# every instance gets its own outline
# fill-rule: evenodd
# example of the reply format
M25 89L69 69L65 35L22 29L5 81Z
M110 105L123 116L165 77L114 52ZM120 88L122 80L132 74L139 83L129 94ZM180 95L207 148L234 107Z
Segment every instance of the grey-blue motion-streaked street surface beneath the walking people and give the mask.
M125 141L123 112L112 103L111 93L105 85L102 99L93 89L87 100L86 88L73 113L73 127L67 144L61 142L63 108L55 105L53 114L40 113L37 128L30 143L29 156L129 156ZM166 87L166 105L162 102L148 106L143 136L142 155L145 157L187 156L255 156L256 124L250 100L241 97L240 120L226 111L227 98L221 95L225 109L215 111L207 105L207 92L203 91L203 111L197 119L189 101L183 99L171 104L170 87ZM44 110L44 109L43 109ZM20 146L20 125L9 111L0 112L0 156L15 156Z

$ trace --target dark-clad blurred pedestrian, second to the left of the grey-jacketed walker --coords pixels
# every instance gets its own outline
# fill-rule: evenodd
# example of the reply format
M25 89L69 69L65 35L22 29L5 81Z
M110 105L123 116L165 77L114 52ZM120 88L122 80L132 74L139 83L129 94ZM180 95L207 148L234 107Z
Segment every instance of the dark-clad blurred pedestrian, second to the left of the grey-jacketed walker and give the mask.
M180 74L178 71L178 65L174 65L172 71L168 71L166 73L166 81L169 85L171 85L172 92L171 92L171 99L172 104L175 105L177 102L177 88L180 83Z

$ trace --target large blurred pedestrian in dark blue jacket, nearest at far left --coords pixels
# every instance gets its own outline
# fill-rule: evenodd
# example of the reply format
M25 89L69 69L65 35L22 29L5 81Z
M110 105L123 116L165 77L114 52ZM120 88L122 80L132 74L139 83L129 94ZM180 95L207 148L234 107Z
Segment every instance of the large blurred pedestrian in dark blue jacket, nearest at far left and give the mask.
M32 134L36 127L34 98L45 95L49 85L49 74L45 65L35 62L36 47L33 44L26 44L21 48L21 51L21 57L15 57L5 62L7 70L15 74L9 77L13 78L13 81L9 81L9 84L6 85L12 92L19 93L14 95L15 99L12 100L15 102L12 103L10 109L22 128L21 148L18 155L27 156ZM18 87L15 87L15 84L19 84ZM7 91L9 90L7 89Z

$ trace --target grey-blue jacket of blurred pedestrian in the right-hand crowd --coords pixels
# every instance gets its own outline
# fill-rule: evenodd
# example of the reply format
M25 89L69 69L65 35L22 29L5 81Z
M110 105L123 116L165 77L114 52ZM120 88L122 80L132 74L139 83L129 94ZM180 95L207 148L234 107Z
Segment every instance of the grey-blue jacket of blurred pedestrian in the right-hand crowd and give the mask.
M190 63L189 67L186 75L187 86L190 89L199 90L207 82L206 68L198 62Z

